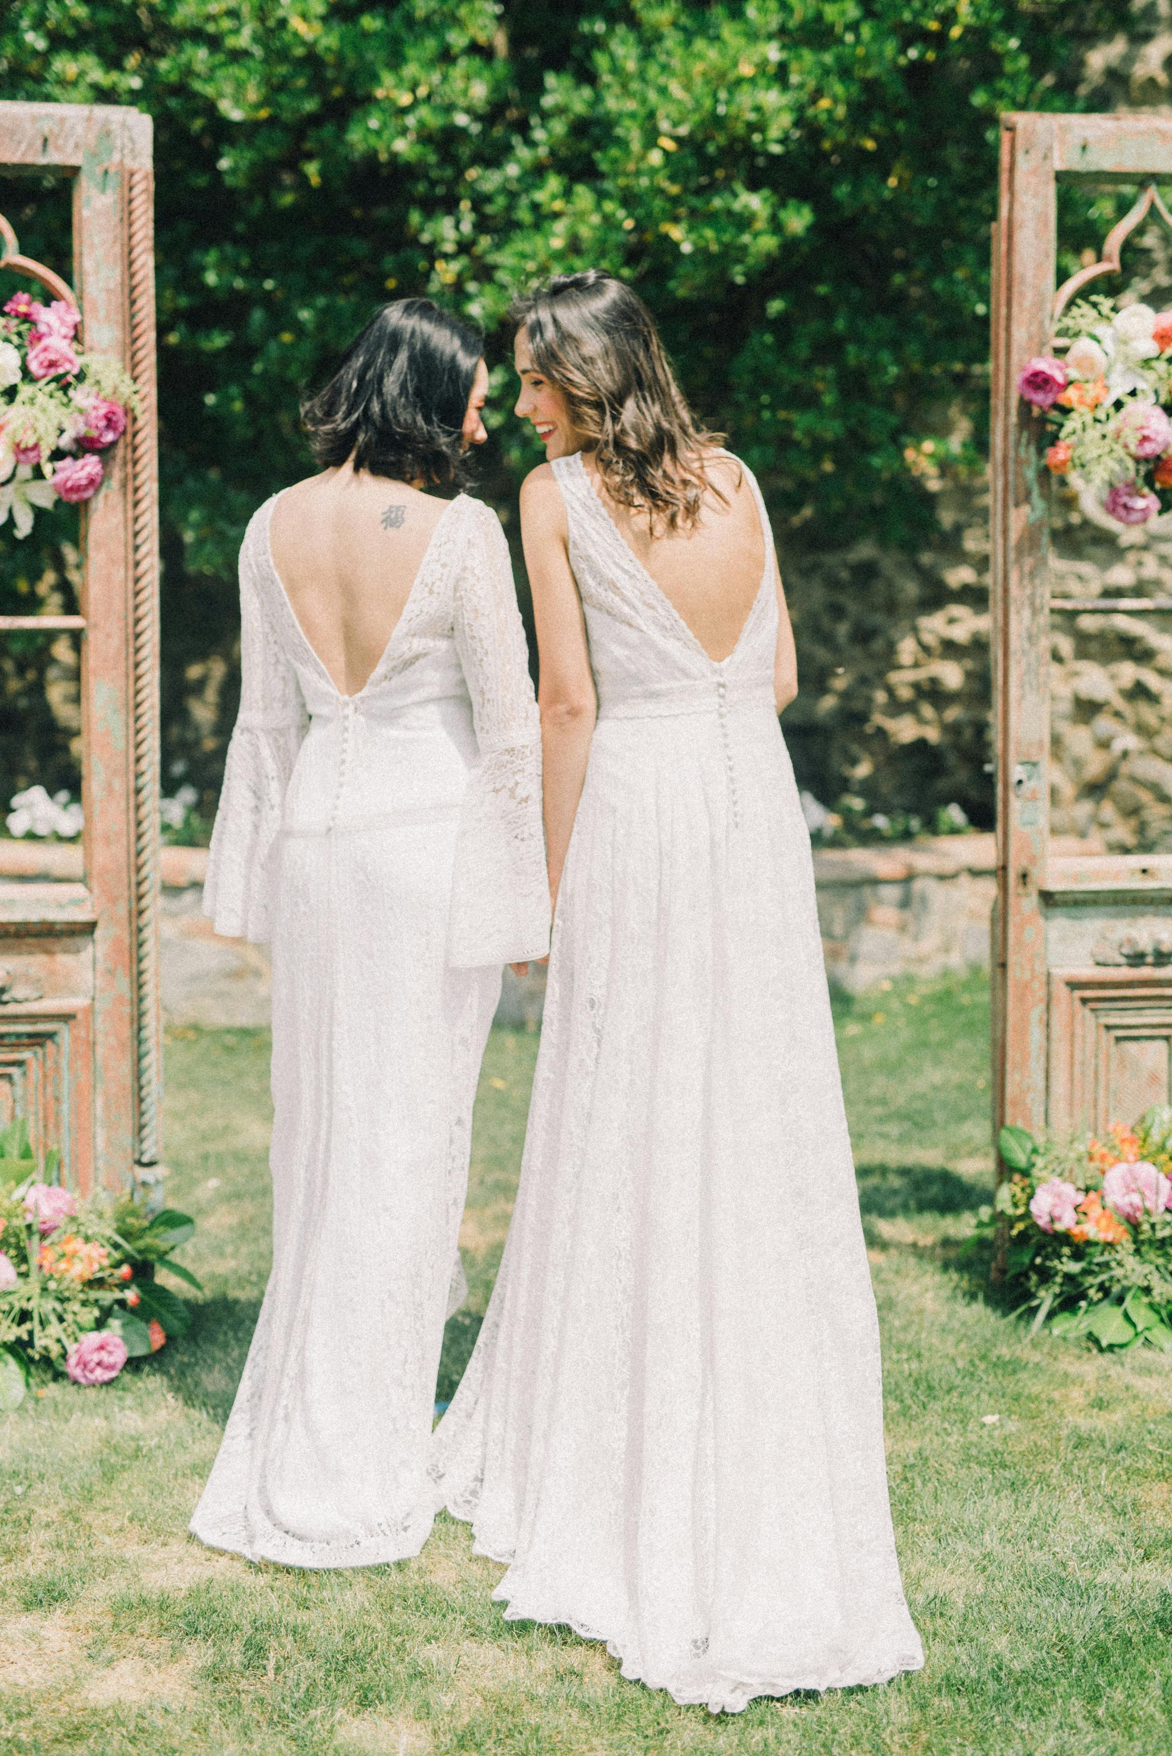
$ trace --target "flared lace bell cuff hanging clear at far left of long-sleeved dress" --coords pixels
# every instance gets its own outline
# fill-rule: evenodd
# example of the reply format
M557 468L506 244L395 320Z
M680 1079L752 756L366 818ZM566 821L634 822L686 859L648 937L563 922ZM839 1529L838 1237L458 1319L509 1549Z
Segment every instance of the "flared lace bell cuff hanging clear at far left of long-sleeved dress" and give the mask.
M269 939L272 855L302 729L237 720L207 853L204 913L228 939Z

